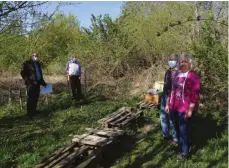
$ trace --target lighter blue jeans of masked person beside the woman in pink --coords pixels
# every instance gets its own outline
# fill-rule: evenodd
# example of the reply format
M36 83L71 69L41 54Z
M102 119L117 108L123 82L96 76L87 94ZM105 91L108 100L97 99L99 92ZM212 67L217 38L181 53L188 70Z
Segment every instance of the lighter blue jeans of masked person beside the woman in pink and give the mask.
M171 128L171 135L173 140L178 141L175 125L173 124L174 122L172 122L172 120L170 119L170 115L165 112L165 105L166 105L166 96L163 96L161 98L161 110L160 110L162 134L164 137L169 137L169 129Z

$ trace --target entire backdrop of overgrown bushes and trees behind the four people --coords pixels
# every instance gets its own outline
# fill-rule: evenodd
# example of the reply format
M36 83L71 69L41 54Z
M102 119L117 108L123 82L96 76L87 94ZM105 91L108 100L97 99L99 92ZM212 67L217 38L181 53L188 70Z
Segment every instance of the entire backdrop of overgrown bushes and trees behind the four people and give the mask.
M166 67L167 55L188 51L196 58L202 94L223 101L221 107L226 109L227 2L125 2L116 20L109 15L92 15L90 28L80 27L77 17L71 14L48 17L37 8L30 10L38 21L26 35L26 21L20 17L16 19L20 26L11 25L10 30L1 32L2 72L19 72L22 62L36 51L46 73L64 74L67 60L77 54L90 75L89 85L106 83L120 88L125 84L117 81L135 82L149 68L152 73L147 75L152 77L148 83L153 85L159 71ZM7 17L13 17L13 12ZM135 89L131 83L129 86ZM117 92L117 96L121 94Z

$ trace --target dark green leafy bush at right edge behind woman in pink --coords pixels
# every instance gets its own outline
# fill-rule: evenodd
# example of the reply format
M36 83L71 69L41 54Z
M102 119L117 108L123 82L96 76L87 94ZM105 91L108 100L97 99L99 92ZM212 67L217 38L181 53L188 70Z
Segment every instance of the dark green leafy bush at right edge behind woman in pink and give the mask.
M197 60L197 71L201 75L202 94L208 95L208 103L226 110L228 100L228 47L226 41L228 39L222 32L227 28L217 27L211 21L204 22L202 28L200 39L194 41L190 46Z

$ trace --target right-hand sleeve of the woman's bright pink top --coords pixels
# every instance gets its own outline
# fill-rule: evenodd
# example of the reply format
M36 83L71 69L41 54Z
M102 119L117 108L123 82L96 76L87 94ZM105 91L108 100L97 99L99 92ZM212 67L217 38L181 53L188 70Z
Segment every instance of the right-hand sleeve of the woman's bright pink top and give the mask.
M191 78L192 85L191 85L191 91L192 91L192 96L191 96L191 103L196 104L199 99L200 95L200 77L194 73L193 77Z

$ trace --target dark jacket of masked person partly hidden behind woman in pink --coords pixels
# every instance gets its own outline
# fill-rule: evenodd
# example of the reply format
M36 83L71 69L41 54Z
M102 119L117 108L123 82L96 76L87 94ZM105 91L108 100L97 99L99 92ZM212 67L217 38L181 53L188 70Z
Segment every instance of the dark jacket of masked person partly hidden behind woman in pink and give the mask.
M171 69L168 69L165 73L164 78L164 88L163 88L163 95L169 96L171 90L172 90L172 80L175 78L175 76L178 74L177 70L171 71Z

